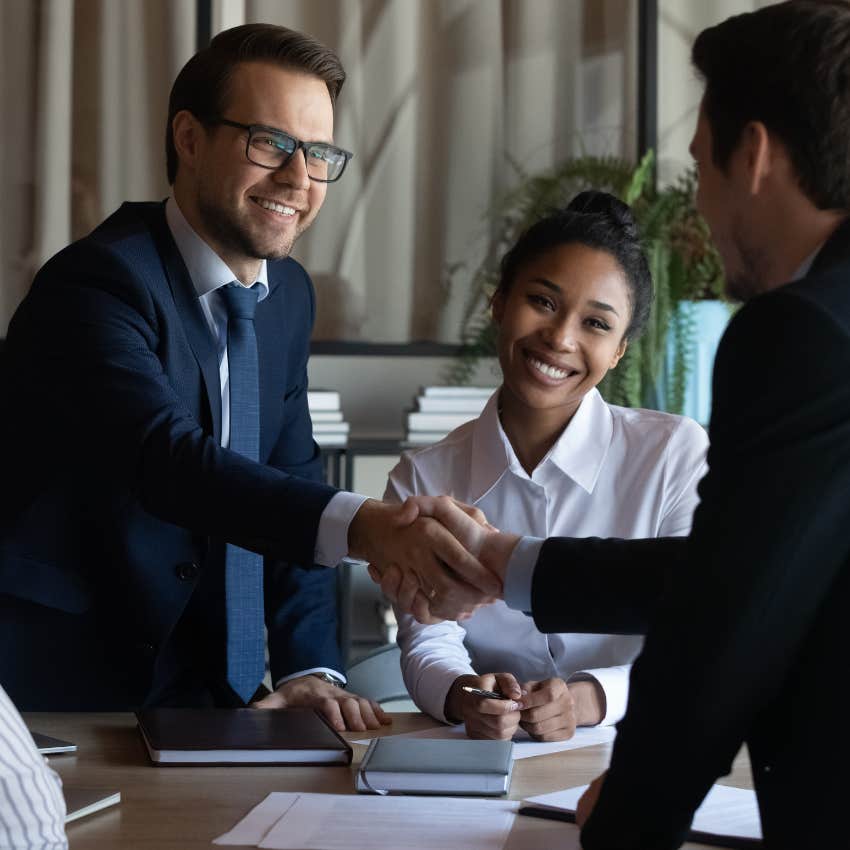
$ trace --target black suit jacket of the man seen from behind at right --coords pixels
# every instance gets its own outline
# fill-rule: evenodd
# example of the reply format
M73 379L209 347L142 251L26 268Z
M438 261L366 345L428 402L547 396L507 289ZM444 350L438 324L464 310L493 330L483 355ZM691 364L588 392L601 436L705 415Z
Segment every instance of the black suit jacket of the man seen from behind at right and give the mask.
M690 537L550 540L543 630L642 632L587 850L678 847L746 743L771 848L847 846L850 224L717 352Z

